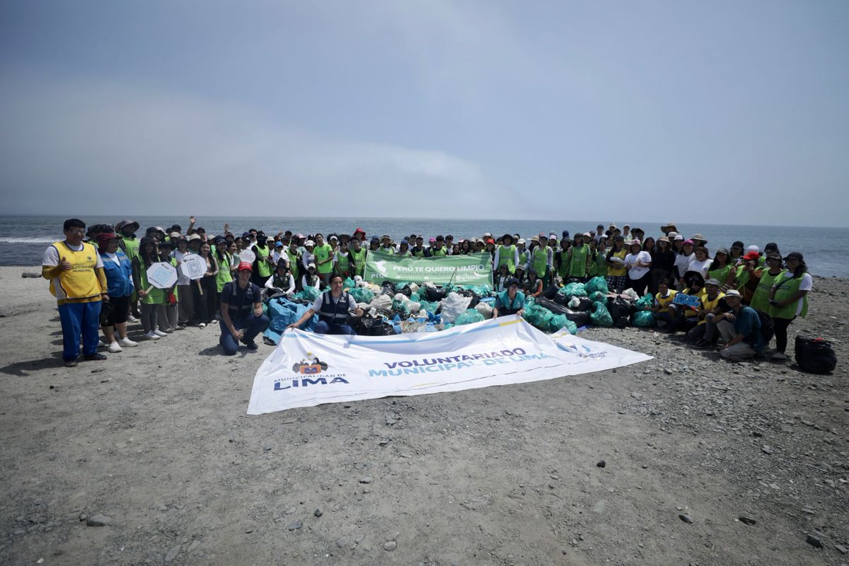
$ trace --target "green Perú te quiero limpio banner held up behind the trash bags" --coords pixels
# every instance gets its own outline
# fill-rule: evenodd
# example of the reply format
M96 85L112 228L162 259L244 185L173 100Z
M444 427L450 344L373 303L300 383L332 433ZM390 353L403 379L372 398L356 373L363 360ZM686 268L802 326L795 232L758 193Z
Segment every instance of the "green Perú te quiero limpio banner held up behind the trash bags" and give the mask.
M384 281L434 285L489 285L492 287L492 257L487 254L413 257L369 251L363 279L380 285Z

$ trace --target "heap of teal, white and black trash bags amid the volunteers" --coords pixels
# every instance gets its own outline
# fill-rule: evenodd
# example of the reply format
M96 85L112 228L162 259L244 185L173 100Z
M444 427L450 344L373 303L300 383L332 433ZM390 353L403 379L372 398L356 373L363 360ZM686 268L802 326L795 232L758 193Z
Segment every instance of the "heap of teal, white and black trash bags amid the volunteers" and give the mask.
M343 283L365 313L351 317L351 327L360 335L388 336L411 332L438 332L453 326L481 322L492 318L495 293L488 285L446 285L433 283L391 283L382 286L367 283L361 277L350 277ZM296 322L318 297L318 289L307 288L291 299L275 297L267 301L270 324L266 338L277 344L279 336ZM593 277L587 283L568 283L558 288L551 285L543 295L528 297L524 317L546 333L567 328L575 334L578 328L655 325L650 294L639 297L632 289L622 294L610 293L604 277ZM312 330L318 315L306 322Z

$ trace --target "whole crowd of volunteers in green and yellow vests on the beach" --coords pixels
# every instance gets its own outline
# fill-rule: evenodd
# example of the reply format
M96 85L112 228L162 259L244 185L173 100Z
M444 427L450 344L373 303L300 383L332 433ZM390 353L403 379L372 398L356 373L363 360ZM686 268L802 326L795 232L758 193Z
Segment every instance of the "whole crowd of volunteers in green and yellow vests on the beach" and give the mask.
M413 233L400 242L389 235L368 238L362 228L326 237L291 231L268 236L254 228L233 233L225 225L222 234L212 235L195 223L192 216L185 232L173 225L167 230L148 227L140 235L138 222L132 220L88 228L79 219L65 221L65 239L49 246L42 261L42 275L50 280L59 305L65 365L76 365L81 339L87 360L105 359L98 345L110 353L138 345L127 335L128 322L140 323L143 338L149 340L187 326L217 323L225 353L234 354L239 343L256 349L256 335L268 323L262 301L307 287L324 291L309 311L321 318L318 331L351 333L344 321L357 305L348 304L341 285L347 277L363 276L369 251L414 257L488 255L496 316L522 314L526 297L538 297L552 286L604 277L613 293L633 289L640 296L651 294L654 317L663 328L685 332L700 348L722 342L722 355L729 359L764 350L761 313L774 327L773 359L786 359L787 328L794 318L807 315L812 289L798 252L782 257L777 244L760 249L737 241L711 256L702 234L686 238L674 223L661 226L656 238L639 227L599 224L592 232L564 230L559 236L539 233L527 239L518 233L484 233L425 240ZM193 281L177 269L171 289L149 283L147 272L155 263L178 267L187 255L203 259L203 277ZM682 294L678 300L677 294ZM698 302L681 300L683 295Z

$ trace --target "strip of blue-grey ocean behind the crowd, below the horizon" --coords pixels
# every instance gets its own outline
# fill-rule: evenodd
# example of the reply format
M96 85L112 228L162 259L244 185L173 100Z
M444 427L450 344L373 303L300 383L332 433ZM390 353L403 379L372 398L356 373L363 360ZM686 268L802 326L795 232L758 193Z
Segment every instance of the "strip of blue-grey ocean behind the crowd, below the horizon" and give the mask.
M121 217L89 216L81 218L87 225L98 223L114 224ZM171 227L179 224L185 233L188 216L137 216L133 220L141 224L139 235L143 235L149 226ZM0 266L39 266L44 249L62 239L63 216L0 216ZM370 238L373 235L388 234L396 242L412 233L432 238L437 234L453 234L459 238L480 237L489 232L495 236L504 233L519 233L522 238L530 238L537 233L560 234L563 230L570 233L594 232L599 222L606 226L610 219L593 221L532 221L532 220L457 220L457 219L419 219L419 218L307 218L307 217L232 217L205 216L198 218L198 226L204 227L208 234L223 232L224 223L230 223L233 233L242 233L249 228L263 230L269 236L279 230L291 230L294 233L316 233L325 235L331 232L352 233L362 227ZM642 227L646 234L657 238L661 235L658 222L615 221L616 226L630 224ZM713 255L718 248L730 248L735 240L745 245L755 244L763 249L767 242L776 242L782 254L799 251L805 256L808 270L823 277L849 277L849 262L843 259L844 242L849 239L849 228L833 227L788 227L788 226L733 226L726 224L678 224L678 228L687 238L701 233L708 240L707 248Z

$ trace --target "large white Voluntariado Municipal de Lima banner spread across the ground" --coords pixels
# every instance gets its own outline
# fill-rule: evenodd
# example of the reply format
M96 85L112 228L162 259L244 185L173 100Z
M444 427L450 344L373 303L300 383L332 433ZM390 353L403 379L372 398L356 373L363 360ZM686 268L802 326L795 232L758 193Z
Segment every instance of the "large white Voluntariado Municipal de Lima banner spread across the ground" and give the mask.
M565 329L545 334L515 315L396 336L287 330L256 372L248 414L521 384L650 359Z

